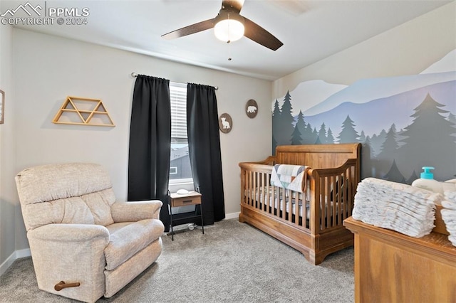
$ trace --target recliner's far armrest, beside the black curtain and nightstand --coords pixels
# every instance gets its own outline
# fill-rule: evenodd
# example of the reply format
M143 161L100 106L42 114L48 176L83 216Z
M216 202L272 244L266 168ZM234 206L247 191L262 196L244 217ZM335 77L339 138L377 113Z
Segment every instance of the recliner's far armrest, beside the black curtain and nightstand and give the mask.
M158 219L162 205L160 200L115 202L111 206L111 215L115 223Z

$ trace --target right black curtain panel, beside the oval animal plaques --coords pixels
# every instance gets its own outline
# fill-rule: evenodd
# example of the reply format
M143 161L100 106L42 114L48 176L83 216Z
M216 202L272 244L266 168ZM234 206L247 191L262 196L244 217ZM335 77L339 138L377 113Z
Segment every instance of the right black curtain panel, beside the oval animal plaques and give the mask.
M188 149L195 189L202 194L204 225L225 218L218 117L215 88L188 83Z

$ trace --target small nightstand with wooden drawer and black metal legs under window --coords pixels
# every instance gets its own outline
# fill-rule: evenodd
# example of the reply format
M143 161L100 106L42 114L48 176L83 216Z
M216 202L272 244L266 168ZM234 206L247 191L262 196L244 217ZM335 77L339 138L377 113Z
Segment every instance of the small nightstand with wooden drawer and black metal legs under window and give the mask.
M185 193L183 195L178 193L170 193L170 219L171 219L171 240L174 241L174 233L172 227L173 223L173 215L172 215L172 208L173 207L180 207L180 206L188 206L188 205L195 205L195 212L192 213L180 213L174 215L175 222L179 222L182 220L191 220L201 218L201 227L202 233L204 235L204 223L202 221L202 203L201 203L201 193L197 191L190 191L190 193ZM200 215L197 215L197 208L196 206L199 205Z

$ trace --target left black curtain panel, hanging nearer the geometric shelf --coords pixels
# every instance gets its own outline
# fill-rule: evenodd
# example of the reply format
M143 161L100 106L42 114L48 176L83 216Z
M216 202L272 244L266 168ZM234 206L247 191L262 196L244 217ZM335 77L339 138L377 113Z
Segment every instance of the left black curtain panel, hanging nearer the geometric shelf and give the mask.
M170 228L170 80L138 75L133 90L128 155L128 201L163 202L160 220Z

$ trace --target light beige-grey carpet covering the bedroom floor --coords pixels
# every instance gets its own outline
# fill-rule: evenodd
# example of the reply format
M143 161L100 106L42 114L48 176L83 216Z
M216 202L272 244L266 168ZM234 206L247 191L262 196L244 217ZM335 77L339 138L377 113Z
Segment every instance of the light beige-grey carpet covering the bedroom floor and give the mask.
M354 302L353 248L311 265L237 219L164 235L157 262L98 302ZM75 260L75 262L77 262ZM0 277L0 302L74 302L38 289L30 257Z

